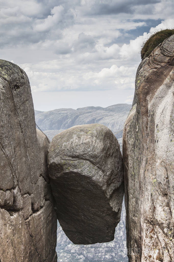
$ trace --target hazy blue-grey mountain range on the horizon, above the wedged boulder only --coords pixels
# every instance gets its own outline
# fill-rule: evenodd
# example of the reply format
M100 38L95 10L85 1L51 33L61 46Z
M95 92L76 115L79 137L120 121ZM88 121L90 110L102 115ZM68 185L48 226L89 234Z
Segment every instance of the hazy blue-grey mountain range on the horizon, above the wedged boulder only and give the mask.
M74 125L100 123L115 134L123 129L131 105L117 104L108 107L60 108L51 111L35 110L35 121L39 128L52 140L53 136ZM121 138L123 132L116 134Z

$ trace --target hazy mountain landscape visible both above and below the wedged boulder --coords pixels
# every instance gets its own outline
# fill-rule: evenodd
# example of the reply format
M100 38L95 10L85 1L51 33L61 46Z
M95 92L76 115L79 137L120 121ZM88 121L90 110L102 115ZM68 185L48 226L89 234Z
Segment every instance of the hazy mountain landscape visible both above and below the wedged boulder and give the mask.
M61 108L47 112L35 110L35 121L50 140L56 134L74 125L103 124L115 134L122 151L123 131L119 131L123 129L131 107L128 104L117 104L105 108L88 106L77 108L77 110L72 108ZM127 262L124 201L121 220L116 227L113 241L86 246L74 245L58 223L56 251L58 254L57 261L63 262Z

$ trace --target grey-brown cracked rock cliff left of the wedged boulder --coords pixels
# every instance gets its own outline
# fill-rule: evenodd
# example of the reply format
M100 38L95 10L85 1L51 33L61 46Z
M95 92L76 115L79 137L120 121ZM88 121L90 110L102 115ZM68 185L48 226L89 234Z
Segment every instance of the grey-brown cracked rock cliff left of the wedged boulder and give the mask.
M27 75L0 60L0 261L57 261L48 141L36 131Z

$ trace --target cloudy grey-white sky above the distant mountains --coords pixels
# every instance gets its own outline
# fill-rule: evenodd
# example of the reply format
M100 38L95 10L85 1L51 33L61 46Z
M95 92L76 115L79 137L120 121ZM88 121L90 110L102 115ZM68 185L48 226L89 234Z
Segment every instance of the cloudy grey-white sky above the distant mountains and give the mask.
M28 75L34 108L132 103L142 43L173 28L173 0L1 0L0 58Z

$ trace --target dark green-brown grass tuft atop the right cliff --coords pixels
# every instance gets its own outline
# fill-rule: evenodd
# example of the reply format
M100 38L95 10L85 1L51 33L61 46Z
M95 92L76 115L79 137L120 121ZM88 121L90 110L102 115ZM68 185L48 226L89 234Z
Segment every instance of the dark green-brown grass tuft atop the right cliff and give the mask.
M174 29L165 29L151 35L151 37L149 37L149 39L145 42L145 44L141 49L141 59L148 57L149 54L155 49L155 47L157 47L167 37L173 34L174 34Z

